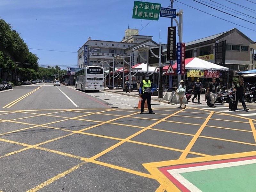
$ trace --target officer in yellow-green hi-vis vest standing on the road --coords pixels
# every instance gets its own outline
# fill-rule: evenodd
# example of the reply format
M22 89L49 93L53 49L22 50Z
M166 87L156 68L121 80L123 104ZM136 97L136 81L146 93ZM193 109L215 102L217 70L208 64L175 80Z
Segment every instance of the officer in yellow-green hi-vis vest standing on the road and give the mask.
M144 104L145 104L145 101L147 100L148 102L148 111L149 111L149 114L155 114L153 111L152 111L152 108L151 108L151 92L152 92L152 85L151 85L151 81L148 80L149 79L149 76L146 75L144 77L144 80L141 81L140 83L140 97L142 97L142 101L141 101L141 109L140 109L140 114L144 114Z

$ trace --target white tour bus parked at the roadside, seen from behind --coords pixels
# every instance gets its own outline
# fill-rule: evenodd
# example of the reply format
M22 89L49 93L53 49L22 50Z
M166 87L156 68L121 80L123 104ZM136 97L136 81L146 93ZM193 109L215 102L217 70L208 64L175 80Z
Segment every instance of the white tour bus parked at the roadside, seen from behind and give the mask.
M88 66L76 71L76 89L86 91L104 90L103 67Z

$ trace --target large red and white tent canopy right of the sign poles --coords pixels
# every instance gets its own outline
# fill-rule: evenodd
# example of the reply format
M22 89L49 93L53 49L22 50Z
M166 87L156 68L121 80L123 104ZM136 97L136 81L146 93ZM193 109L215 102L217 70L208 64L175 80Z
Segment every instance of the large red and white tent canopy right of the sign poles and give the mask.
M175 63L172 66L172 68L177 69L177 63ZM168 66L165 66L164 70L167 70L167 69L168 69ZM211 63L196 57L185 59L185 69L228 71L227 67L216 65L214 63Z

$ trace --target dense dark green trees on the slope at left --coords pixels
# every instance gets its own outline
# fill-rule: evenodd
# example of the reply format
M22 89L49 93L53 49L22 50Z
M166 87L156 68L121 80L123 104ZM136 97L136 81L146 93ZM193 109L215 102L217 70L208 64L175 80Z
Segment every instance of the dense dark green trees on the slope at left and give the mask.
M11 24L0 18L0 79L20 80L34 79L38 75L38 57L29 52L28 45L20 34L12 29Z

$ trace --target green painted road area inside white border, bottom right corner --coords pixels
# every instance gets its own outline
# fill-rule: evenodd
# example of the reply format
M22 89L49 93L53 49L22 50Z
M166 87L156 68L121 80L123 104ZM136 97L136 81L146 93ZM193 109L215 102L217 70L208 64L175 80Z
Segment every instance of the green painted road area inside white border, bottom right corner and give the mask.
M201 191L255 192L256 164L180 173Z

